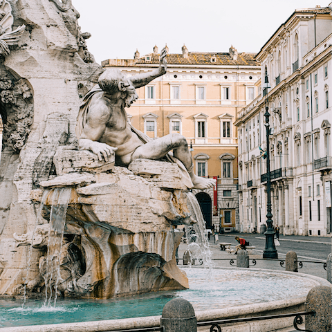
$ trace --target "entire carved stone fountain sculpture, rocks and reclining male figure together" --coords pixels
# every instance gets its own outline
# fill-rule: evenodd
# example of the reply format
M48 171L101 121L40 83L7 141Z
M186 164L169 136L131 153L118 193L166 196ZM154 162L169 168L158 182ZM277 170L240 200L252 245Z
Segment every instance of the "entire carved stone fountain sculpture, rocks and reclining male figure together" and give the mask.
M104 71L79 17L69 0L0 0L0 295L188 288L174 225L202 223L188 190L214 182L183 136L149 141L124 109L166 53L151 73Z

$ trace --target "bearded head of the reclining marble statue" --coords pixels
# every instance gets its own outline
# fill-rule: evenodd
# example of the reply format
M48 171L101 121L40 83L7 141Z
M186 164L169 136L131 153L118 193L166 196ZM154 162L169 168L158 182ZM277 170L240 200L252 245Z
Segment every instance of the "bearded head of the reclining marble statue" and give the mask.
M120 92L120 98L124 99L126 107L130 107L130 105L138 99L135 86L133 86L119 69L113 68L104 71L99 77L98 84L103 91L111 95Z

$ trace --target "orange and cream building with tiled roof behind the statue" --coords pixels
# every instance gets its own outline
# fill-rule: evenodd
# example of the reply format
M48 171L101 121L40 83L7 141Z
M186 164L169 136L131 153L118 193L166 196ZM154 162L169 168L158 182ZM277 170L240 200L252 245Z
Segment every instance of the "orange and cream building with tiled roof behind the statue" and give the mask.
M194 190L208 228L239 228L237 113L257 97L260 67L251 53L190 52L167 54L167 73L138 89L139 99L127 109L129 121L151 138L181 133L192 150L194 172L215 176L217 190ZM127 75L152 71L158 48L134 59L107 59L104 68Z

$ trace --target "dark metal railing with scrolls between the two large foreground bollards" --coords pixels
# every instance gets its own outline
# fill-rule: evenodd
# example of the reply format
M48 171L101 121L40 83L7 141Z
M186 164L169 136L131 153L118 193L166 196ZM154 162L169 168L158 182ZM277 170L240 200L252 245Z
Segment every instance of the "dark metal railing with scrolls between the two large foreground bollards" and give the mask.
M198 322L197 326L211 326L210 332L221 332L220 325L230 323L241 323L241 322L254 322L258 320L273 320L277 318L294 317L293 325L297 331L311 332L310 330L301 330L297 325L303 324L304 315L315 315L315 311L301 311L299 313L281 313L279 315L266 315L266 316L255 316L255 317L243 317L243 318L229 318L225 320L210 320L207 322Z

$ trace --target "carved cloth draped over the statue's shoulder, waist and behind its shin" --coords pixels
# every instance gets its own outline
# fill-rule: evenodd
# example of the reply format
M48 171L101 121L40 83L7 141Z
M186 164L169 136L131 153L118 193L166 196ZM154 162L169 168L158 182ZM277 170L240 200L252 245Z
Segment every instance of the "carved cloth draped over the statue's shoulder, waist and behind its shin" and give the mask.
M80 106L80 111L78 112L78 116L77 116L77 122L76 122L76 128L75 128L77 138L80 138L80 136L84 130L85 124L87 122L89 107L90 107L93 95L95 95L96 93L100 93L100 92L102 92L102 89L100 88L100 86L98 84L96 84L84 96L83 102ZM145 135L145 133L142 133L142 131L139 131L138 129L134 128L133 126L131 126L131 124L128 124L128 125L129 125L131 131L136 133L138 138L140 138L140 140L143 143L147 143L147 142L151 141L151 138L149 138L149 136ZM187 169L185 168L185 165L183 165L183 163L181 163L181 161L178 160L178 158L175 158L174 156L172 156L172 152L169 152L167 154L166 160L171 163L176 163L178 165L178 167L180 167L182 175L183 175L182 181L183 181L184 185L188 189L192 189L192 187L194 187L194 185L192 184L192 180L190 178L190 175L187 172Z

